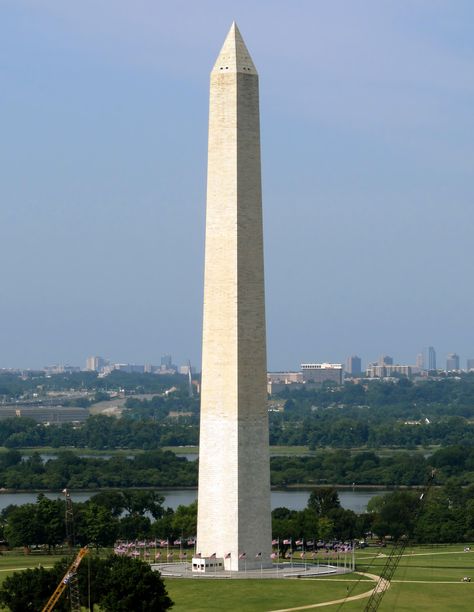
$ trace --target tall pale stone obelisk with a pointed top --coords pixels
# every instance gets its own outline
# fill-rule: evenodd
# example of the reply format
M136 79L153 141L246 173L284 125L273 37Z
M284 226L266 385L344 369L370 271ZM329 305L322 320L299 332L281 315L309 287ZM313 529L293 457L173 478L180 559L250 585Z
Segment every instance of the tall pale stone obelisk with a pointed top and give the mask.
M211 72L197 552L271 552L258 75L232 24Z

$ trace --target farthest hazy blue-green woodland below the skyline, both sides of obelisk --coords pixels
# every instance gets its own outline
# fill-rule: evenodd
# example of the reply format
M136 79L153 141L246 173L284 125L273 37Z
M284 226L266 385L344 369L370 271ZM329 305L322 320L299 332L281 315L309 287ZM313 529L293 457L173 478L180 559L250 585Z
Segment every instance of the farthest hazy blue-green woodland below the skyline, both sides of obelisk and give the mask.
M45 427L31 419L6 419L0 421L0 445L152 449L198 443L199 399L188 397L185 377L116 372L98 379L89 374L41 379L39 387L44 387L44 392L67 384L73 389L95 390L92 400L105 397L105 384L109 389L146 390L157 395L145 400L130 395L122 419L95 416L81 427ZM0 385L1 381L2 375ZM12 392L22 385L35 388L28 377L9 384ZM177 392L164 395L171 384ZM460 380L446 377L417 384L403 378L398 382L374 380L367 385L348 381L341 387L286 390L281 399L285 401L284 412L270 413L270 442L275 445L308 445L313 449L474 445L473 374Z

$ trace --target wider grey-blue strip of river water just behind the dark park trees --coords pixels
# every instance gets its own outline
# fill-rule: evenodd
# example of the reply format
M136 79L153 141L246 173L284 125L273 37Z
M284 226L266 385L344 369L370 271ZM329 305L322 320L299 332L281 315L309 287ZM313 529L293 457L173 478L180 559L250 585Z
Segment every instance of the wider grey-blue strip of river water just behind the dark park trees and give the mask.
M84 502L98 491L71 491L73 501ZM180 504L185 506L191 504L197 496L196 489L163 489L160 493L165 497L165 506L175 510ZM290 510L302 510L306 507L311 490L291 489L272 491L271 505L274 508L285 507ZM367 503L374 495L386 493L386 489L338 489L341 506L348 510L361 513L367 509ZM0 492L0 510L10 504L17 506L36 501L37 492L30 493L2 493ZM61 497L59 493L46 493L46 497L56 499Z

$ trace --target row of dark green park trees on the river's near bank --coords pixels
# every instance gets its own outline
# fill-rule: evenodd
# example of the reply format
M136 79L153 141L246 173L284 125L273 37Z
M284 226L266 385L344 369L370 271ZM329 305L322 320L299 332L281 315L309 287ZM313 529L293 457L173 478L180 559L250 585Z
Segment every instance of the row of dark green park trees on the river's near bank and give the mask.
M306 508L272 511L272 534L280 552L288 548L329 548L334 541L366 537L398 539L408 536L418 543L448 543L474 539L474 485L460 486L451 479L432 489L420 509L419 493L394 491L376 496L367 512L357 515L341 508L337 491L318 487ZM169 548L194 549L197 502L163 507L155 491L102 492L74 504L76 544L96 548L117 540L155 540ZM66 539L65 502L38 496L35 504L9 506L0 513L0 539L11 547L43 546L49 550Z

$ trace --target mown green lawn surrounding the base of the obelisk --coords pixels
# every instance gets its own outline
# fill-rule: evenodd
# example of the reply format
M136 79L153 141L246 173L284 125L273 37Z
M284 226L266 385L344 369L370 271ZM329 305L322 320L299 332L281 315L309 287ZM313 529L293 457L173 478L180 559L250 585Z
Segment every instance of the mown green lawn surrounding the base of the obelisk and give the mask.
M402 557L380 610L466 611L474 608L474 545L409 547ZM371 574L382 571L387 549L357 552L357 568ZM39 564L50 567L61 555L0 556L0 582L13 571ZM463 576L473 582L463 583ZM292 580L183 580L167 579L174 612L263 612L329 602L370 591L374 582L359 574ZM331 610L363 610L367 599L324 606Z

